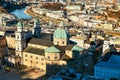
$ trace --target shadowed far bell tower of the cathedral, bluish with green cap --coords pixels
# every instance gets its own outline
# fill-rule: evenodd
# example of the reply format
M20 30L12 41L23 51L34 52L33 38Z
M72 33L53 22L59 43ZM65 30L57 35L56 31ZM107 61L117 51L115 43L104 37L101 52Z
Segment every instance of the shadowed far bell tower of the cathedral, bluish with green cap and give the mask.
M41 34L40 22L36 18L36 19L34 19L33 35L34 35L34 37L38 38L38 37L40 37L40 34Z

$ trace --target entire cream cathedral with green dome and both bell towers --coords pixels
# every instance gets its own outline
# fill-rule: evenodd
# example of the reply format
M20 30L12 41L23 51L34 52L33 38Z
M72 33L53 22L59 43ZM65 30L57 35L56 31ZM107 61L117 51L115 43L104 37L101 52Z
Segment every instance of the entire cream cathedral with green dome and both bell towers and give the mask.
M34 20L33 38L28 43L23 28L23 24L19 21L15 32L15 55L8 58L8 61L16 66L25 65L46 73L49 70L54 72L59 70L60 66L66 66L69 60L77 58L84 50L69 43L70 35L63 21L54 31L53 41L39 38L41 28L38 19Z

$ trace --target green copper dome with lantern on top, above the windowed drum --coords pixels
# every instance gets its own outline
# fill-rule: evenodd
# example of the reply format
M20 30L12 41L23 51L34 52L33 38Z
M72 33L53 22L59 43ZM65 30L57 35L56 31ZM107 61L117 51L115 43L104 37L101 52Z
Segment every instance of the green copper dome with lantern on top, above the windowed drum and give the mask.
M68 39L69 38L69 33L66 29L63 28L64 23L60 23L60 28L57 28L54 31L53 38L59 38L59 39Z

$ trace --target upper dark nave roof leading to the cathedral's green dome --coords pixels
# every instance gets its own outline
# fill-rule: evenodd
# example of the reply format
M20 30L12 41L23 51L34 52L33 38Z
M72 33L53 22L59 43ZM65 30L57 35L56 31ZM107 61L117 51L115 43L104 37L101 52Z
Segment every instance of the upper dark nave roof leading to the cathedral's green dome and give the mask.
M53 42L45 39L37 39L37 38L32 38L28 43L31 44L37 44L37 45L42 45L42 46L52 46Z

